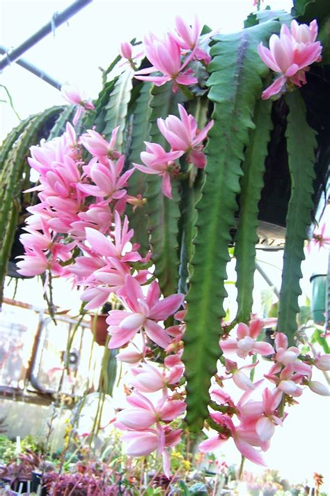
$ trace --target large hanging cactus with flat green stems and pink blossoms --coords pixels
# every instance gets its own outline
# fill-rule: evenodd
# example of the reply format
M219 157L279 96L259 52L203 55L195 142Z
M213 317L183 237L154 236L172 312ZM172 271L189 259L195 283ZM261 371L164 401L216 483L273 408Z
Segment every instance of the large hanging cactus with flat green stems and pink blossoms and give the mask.
M311 375L312 366L327 370L329 357L301 354L296 340L300 266L320 197L314 180L318 192L329 163L327 133L316 138L313 127L316 115L320 129L330 129L330 113L323 114L330 104L330 7L320 3L320 10L302 0L290 14L254 13L231 35L177 19L175 33L146 37L141 63L123 43L123 72L112 75L116 59L94 103L63 88L78 114L71 123L63 110L51 132L58 138L31 147L40 204L21 236L19 271L49 273L50 283L70 276L84 285L88 310L111 293L123 303L124 310L109 312L108 347L125 347L118 359L134 365L134 390L116 425L130 455L162 453L167 477L168 449L183 428L215 431L202 452L232 439L242 456L262 464L253 446L267 449L301 386L327 394ZM327 95L321 109L305 87ZM7 154L10 143L13 137L4 142ZM277 318L265 322L251 315L258 219L274 221L259 201L265 180L272 182L267 164L274 172L278 162L288 179L282 184L280 174L277 183L287 193L283 276ZM12 164L6 177L16 177ZM228 322L230 257L238 310ZM274 347L262 340L264 326L276 326ZM127 350L136 335L140 347ZM155 354L164 361L161 372L149 362ZM254 405L246 393L256 383L239 360L253 356L247 367L254 369L258 354L271 356L272 367ZM226 379L244 391L238 402L226 393ZM162 391L158 403L148 399L155 391Z

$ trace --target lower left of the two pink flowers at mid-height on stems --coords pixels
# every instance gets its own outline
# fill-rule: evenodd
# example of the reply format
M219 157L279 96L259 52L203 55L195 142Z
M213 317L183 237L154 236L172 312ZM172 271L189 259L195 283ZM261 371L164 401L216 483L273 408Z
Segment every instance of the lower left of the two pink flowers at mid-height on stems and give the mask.
M181 157L183 153L183 151L166 152L160 144L146 142L146 151L140 155L145 165L136 163L133 165L145 174L162 176L162 192L166 197L172 198L171 175L178 171L178 165L174 163L174 160Z

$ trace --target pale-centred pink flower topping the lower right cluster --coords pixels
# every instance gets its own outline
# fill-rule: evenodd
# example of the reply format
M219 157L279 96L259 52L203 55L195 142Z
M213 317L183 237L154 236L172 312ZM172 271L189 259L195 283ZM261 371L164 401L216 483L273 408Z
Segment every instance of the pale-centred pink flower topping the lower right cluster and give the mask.
M229 338L220 341L220 347L223 353L236 353L239 358L246 358L246 356L260 353L261 355L271 355L274 353L274 348L265 341L256 341L258 338L264 322L262 320L252 320L250 326L246 324L238 324L237 338Z

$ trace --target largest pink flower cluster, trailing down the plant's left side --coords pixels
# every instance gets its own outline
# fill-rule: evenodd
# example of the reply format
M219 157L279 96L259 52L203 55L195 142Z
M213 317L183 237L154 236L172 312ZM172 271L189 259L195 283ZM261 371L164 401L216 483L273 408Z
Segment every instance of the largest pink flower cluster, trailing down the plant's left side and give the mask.
M127 453L157 449L169 476L167 449L179 442L181 433L169 424L186 405L179 391L184 372L179 353L182 330L164 322L173 314L180 318L184 295L162 297L148 269L151 253L143 258L139 245L131 243L134 232L125 206L128 202L136 206L139 199L125 189L135 169L123 172L125 157L116 150L117 132L118 128L113 130L109 142L95 130L77 137L67 123L61 137L31 148L29 164L39 173L40 184L33 188L39 203L29 207L28 227L21 236L25 254L17 265L23 275L46 271L83 286L86 309L99 308L110 294L122 303L123 310L111 310L107 318L109 347L123 347L137 333L142 345L138 352L118 355L127 360L128 354L128 361L135 364L135 379L134 392L127 397L129 408L118 413L116 426L126 431ZM164 373L146 361L155 345L168 354ZM162 391L156 404L144 396L150 391Z

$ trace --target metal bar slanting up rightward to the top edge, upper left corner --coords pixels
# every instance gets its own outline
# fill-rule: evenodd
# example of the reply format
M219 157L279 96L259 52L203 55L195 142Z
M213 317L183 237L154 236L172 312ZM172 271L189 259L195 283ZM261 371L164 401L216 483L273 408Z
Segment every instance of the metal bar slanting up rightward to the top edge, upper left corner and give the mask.
M88 3L91 3L93 0L76 0L72 3L68 8L65 8L60 13L54 13L52 20L45 24L42 28L40 28L36 33L34 33L30 38L25 40L21 45L13 50L10 50L10 53L6 53L6 56L0 60L0 71L10 65L10 63L17 61L24 52L29 50L33 45L36 45L42 38L45 38L47 34L52 33L54 28L61 26L63 22L67 21L72 17L72 15L77 14L79 10L86 7Z

